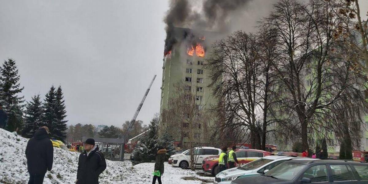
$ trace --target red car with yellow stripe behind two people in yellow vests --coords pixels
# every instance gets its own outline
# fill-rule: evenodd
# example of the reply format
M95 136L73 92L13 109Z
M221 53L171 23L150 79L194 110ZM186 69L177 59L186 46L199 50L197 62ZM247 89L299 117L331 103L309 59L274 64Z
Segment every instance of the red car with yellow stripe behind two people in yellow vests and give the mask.
M271 155L270 152L258 149L237 149L235 154L237 160L239 161L239 164L235 163L235 166L242 166L256 159ZM202 170L212 173L214 176L216 176L216 174L219 172L219 156L209 156L203 159Z

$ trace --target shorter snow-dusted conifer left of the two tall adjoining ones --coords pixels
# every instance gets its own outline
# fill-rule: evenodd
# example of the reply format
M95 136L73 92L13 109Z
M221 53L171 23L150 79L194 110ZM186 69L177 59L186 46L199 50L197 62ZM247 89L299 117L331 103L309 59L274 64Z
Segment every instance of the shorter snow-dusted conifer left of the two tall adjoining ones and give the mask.
M33 137L35 131L42 126L42 117L43 109L40 95L35 95L32 97L32 101L26 105L22 136L25 138Z

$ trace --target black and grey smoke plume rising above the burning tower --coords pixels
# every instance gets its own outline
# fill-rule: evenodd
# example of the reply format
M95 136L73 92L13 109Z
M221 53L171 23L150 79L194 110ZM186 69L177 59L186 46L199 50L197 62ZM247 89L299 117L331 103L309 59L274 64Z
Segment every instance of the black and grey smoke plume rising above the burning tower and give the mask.
M171 0L164 22L166 39L164 54L178 42L174 26L223 32L226 30L231 12L240 10L251 0L198 0L202 3L201 12L194 11L189 0Z

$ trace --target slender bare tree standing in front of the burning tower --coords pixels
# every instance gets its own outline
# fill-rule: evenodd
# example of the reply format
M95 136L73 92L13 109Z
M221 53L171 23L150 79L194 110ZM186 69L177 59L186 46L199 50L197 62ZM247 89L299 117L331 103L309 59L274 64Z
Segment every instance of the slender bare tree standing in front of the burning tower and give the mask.
M166 130L173 135L180 135L180 146L190 148L190 167L195 169L199 155L195 146L205 144L209 134L209 114L205 112L205 100L197 92L197 86L188 82L178 82L174 85L175 95L169 100L169 109L162 112L162 122ZM203 136L201 138L201 136ZM189 144L184 144L187 138Z

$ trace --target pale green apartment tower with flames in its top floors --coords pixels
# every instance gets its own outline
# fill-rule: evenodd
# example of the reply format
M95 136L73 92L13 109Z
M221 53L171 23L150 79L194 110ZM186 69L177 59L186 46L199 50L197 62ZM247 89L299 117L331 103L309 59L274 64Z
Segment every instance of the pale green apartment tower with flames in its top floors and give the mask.
M171 35L172 45L165 47L159 134L162 134L163 131L171 131L176 144L184 148L190 147L189 141L192 142L192 146L210 145L210 128L215 122L213 116L206 116L205 121L199 121L189 127L184 119L182 122L178 122L181 120L165 116L165 112L167 113L172 108L178 108L173 107L173 104L170 103L170 100L177 98L178 88L184 88L184 91L195 96L195 107L201 112L206 112L206 115L208 115L209 109L217 105L218 101L209 87L211 83L210 71L204 65L206 64L205 59L209 57L210 45L213 40L217 39L218 35L216 32L174 27ZM185 113L185 109L183 109L183 118L186 118ZM188 130L189 128L195 130Z

